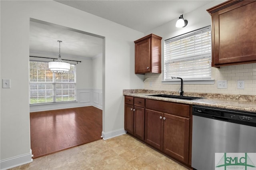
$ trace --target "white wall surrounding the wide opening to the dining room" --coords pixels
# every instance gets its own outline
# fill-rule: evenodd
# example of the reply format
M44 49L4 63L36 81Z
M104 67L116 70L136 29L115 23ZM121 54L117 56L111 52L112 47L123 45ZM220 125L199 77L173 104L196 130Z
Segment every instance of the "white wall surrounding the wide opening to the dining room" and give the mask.
M28 88L30 18L105 37L102 134L108 138L124 132L122 90L143 88L143 77L134 75L133 41L144 34L55 1L0 3L1 79L11 79L10 89L1 87L1 168L29 162L31 156Z

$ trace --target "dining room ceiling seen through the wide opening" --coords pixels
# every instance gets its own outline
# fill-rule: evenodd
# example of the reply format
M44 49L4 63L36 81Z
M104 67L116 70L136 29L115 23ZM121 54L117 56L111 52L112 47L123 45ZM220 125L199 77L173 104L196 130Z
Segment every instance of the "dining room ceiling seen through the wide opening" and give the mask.
M30 21L29 40L30 55L37 57L58 58L59 45L62 59L97 57L103 50L102 38L42 21Z

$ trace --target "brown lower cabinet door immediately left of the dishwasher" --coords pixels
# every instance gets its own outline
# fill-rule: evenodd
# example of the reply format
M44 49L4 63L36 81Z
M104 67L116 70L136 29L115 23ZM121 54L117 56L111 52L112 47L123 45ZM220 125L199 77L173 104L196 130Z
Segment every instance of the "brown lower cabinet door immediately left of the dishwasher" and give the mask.
M189 119L164 114L164 153L188 164Z

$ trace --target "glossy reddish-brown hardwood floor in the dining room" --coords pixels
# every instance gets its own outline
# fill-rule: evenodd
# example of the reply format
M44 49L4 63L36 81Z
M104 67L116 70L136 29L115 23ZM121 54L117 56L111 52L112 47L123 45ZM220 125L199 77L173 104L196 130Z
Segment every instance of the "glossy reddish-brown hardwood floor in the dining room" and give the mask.
M77 107L30 113L33 158L101 139L102 110Z

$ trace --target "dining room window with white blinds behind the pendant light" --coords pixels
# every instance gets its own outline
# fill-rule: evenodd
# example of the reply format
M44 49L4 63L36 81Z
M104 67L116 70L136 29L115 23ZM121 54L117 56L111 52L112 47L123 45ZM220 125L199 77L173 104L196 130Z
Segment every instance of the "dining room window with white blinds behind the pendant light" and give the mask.
M48 62L29 61L30 104L76 101L76 65L70 71L55 74L48 69Z

